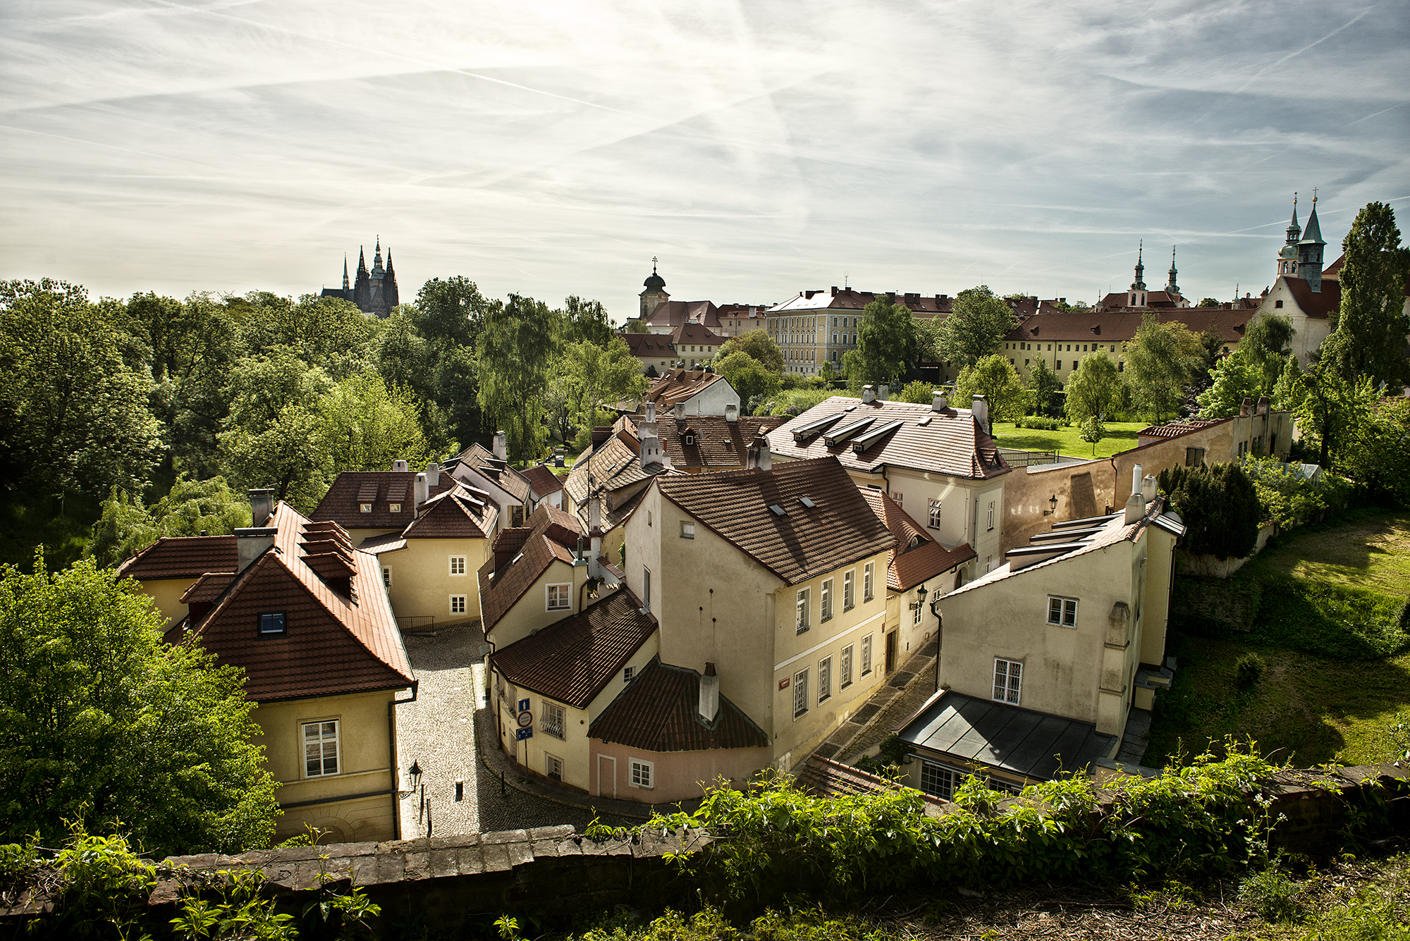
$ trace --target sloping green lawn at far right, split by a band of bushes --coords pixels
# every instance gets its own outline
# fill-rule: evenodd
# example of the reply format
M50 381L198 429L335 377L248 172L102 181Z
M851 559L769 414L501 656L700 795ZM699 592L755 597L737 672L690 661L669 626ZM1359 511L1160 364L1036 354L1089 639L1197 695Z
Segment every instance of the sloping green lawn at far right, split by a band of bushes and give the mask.
M1403 600L1410 593L1410 513L1361 510L1294 531L1238 578L1289 575ZM1266 594L1263 610L1289 610ZM1265 752L1303 766L1403 758L1410 751L1410 652L1402 644L1380 659L1324 656L1303 630L1306 621L1269 623L1261 614L1252 635L1172 632L1167 652L1179 669L1170 692L1156 697L1145 764L1203 751L1224 735L1252 737ZM1248 652L1268 668L1255 686L1241 689L1234 665Z

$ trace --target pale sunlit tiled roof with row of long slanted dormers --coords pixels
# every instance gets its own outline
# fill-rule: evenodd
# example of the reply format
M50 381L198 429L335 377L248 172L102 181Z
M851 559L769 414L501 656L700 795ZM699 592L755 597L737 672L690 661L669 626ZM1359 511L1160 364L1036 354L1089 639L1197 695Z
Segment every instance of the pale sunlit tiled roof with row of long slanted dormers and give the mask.
M847 411L847 409L852 409ZM840 416L822 434L801 442L794 441L794 428L828 416ZM828 445L828 434L849 423L870 420L862 434L852 440ZM883 435L857 454L853 442L869 431L900 421L900 427ZM924 424L922 424L924 423ZM887 466L912 468L922 472L948 473L955 478L987 479L1008 473L1010 468L998 454L994 440L984 434L969 409L932 411L928 404L908 401L873 401L833 396L821 401L797 418L768 432L768 447L788 458L821 458L833 455L845 468L874 470Z

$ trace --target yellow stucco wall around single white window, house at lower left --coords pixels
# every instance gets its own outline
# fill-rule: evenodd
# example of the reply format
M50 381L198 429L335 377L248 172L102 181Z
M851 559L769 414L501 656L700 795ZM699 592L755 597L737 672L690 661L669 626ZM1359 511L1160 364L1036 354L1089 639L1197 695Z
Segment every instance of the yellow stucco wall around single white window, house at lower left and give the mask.
M254 744L265 748L269 773L281 783L279 804L306 804L285 810L275 840L303 833L305 823L331 830L344 841L393 837L392 792L398 785L386 717L392 699L392 692L376 692L261 703L255 709L261 734ZM338 721L338 773L307 778L302 725L324 720Z

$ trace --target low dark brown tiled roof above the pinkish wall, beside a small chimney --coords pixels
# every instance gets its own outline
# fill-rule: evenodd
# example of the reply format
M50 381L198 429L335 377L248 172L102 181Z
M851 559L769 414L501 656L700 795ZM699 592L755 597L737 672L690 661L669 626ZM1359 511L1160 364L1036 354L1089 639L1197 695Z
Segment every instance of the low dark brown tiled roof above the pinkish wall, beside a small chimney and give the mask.
M719 697L709 725L699 717L701 675L651 658L602 714L588 737L643 751L767 748L768 735L735 703Z

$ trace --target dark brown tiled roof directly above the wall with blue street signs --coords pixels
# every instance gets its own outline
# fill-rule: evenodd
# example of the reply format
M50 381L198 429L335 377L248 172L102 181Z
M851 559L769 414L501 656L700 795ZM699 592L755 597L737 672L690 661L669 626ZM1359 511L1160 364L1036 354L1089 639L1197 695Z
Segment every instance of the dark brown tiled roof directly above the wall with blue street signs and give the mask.
M623 587L502 647L489 662L515 686L585 709L656 627L656 617L643 614L642 603Z

